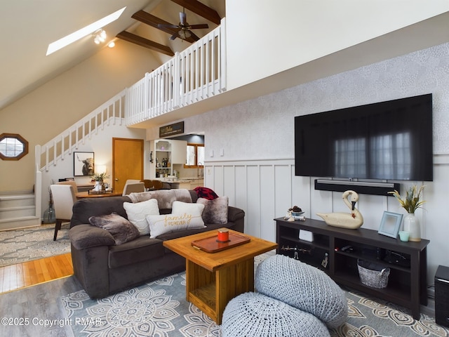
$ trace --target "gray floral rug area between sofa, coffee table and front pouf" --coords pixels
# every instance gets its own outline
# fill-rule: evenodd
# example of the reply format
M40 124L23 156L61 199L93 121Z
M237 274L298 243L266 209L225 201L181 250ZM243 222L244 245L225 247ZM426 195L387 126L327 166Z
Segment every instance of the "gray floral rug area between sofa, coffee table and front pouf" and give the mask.
M91 300L85 291L62 297L74 336L220 336L207 315L185 300L185 273Z

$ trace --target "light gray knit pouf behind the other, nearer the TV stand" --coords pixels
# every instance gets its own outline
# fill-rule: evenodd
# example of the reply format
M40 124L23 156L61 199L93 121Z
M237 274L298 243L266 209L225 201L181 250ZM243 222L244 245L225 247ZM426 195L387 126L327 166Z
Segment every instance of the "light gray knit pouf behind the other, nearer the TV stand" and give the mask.
M255 275L255 289L292 307L309 312L328 327L344 323L348 306L344 291L316 267L288 256L262 261Z

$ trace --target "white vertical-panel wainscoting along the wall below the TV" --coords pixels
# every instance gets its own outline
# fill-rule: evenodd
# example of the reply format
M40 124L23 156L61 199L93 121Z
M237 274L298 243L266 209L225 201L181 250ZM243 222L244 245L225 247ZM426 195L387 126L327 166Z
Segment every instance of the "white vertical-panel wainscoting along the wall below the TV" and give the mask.
M447 190L449 155L434 155L434 182L424 182L424 209L417 211L422 237L430 240L427 259L428 283L438 265L447 265L449 227L447 225ZM276 242L274 218L286 215L294 205L304 210L307 218L319 219L316 213L344 211L342 192L317 191L314 177L295 176L294 159L206 162L205 186L218 195L229 197L229 204L245 211L245 232ZM400 182L401 194L413 184ZM384 211L404 213L394 197L361 194L357 207L364 219L363 227L378 230Z

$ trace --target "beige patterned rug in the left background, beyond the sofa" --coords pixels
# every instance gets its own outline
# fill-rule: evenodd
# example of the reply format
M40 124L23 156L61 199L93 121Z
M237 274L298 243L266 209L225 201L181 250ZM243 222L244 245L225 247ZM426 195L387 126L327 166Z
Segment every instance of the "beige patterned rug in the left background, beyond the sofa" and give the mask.
M69 223L53 241L55 224L0 232L0 267L70 252Z

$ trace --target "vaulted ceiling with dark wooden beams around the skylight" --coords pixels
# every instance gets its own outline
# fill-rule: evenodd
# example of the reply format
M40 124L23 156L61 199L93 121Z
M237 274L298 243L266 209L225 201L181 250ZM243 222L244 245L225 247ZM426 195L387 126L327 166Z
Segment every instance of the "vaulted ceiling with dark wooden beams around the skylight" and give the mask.
M98 53L91 35L46 56L48 44L126 6L121 17L104 27L107 41L126 40L154 53L161 64L194 41L170 40L185 8L190 25L203 37L225 17L225 0L20 0L4 1L0 11L0 110Z

